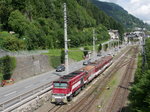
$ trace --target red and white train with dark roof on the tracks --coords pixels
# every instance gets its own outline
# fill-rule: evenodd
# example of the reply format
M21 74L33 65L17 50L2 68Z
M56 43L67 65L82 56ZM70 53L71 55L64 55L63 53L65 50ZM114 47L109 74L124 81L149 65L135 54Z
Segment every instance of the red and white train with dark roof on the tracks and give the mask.
M53 82L52 103L67 103L82 88L102 73L112 63L112 56L106 56Z

